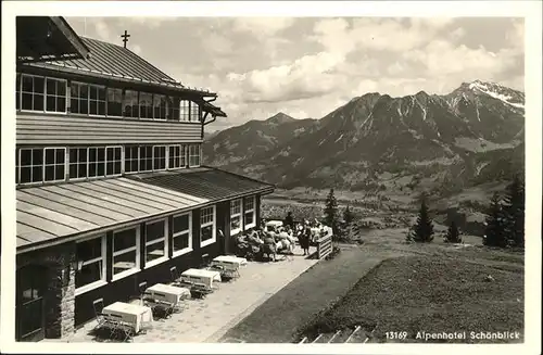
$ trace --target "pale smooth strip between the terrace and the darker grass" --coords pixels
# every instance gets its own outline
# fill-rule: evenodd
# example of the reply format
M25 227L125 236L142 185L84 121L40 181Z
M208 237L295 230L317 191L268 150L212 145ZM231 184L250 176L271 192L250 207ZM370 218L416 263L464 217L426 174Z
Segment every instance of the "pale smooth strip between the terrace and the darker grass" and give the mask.
M330 302L342 297L384 257L368 256L358 246L344 248L331 261L323 261L290 282L251 315L231 328L219 342L286 343L295 330Z

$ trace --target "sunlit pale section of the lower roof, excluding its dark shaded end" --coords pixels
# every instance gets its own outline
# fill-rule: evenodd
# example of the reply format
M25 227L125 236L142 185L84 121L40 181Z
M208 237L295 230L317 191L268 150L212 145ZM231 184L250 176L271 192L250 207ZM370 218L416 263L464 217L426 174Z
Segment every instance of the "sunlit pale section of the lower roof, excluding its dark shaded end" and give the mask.
M16 191L17 250L64 241L87 232L190 210L207 199L114 178Z

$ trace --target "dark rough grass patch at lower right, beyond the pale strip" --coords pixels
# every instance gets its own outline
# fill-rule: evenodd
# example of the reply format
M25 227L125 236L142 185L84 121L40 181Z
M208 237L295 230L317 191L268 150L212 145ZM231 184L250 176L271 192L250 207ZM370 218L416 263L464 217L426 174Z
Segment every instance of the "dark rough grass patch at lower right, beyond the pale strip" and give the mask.
M495 281L485 281L487 275ZM408 342L418 331L521 332L522 300L522 268L503 270L441 255L399 257L384 261L361 279L315 319L310 332L377 325L377 341L386 341L387 331L407 331Z

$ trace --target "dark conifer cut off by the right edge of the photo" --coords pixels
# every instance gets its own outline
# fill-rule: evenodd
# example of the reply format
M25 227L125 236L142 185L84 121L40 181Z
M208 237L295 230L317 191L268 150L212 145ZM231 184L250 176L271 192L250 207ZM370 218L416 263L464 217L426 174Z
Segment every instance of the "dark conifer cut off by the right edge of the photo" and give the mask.
M516 246L525 246L525 183L517 175L506 188L504 214L508 239Z

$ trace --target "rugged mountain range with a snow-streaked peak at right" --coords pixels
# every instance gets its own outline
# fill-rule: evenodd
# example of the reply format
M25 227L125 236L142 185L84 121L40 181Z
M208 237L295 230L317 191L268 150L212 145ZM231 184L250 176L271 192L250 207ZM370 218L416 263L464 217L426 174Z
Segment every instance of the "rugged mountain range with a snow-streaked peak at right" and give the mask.
M290 189L446 195L523 170L525 94L464 83L449 94L353 98L320 119L283 113L206 138L206 164Z

